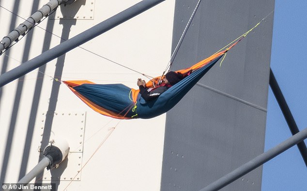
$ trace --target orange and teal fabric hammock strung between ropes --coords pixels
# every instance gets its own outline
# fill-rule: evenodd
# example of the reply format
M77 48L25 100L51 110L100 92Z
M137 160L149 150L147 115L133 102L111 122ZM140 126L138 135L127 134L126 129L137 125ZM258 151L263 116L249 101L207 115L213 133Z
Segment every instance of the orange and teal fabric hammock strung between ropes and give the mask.
M183 80L148 102L140 96L138 89L129 88L123 84L94 84L90 81L63 82L84 103L102 115L119 119L154 118L174 107L230 48L203 59L189 68L176 71L187 73L193 70ZM155 77L146 86L153 87L153 83L160 78L161 76Z

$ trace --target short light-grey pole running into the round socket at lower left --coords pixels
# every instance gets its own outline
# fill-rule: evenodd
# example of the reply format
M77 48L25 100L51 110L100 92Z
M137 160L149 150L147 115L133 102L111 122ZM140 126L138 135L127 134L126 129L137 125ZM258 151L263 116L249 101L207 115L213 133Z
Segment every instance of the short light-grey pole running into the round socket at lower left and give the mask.
M44 157L26 176L18 181L18 184L27 185L34 177L44 171L44 169L49 165L51 165L50 159L48 157Z

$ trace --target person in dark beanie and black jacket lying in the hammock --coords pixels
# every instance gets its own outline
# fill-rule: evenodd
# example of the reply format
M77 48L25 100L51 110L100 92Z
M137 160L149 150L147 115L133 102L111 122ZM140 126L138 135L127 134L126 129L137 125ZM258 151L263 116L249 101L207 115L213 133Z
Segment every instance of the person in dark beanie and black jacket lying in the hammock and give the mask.
M139 93L141 94L142 98L147 102L154 100L155 98L160 96L163 92L168 90L168 88L175 85L183 78L184 78L183 74L170 71L165 74L165 77L163 78L161 85L158 85L155 88L147 88L146 82L141 78L138 78L137 85L139 88Z

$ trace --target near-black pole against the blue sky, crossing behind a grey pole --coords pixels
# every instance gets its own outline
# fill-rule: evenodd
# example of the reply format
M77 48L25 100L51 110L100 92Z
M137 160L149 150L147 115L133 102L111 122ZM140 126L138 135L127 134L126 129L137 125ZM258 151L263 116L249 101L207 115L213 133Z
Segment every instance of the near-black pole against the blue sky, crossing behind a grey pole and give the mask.
M295 120L292 116L292 113L288 107L288 104L278 86L278 83L276 81L276 78L274 76L274 73L272 72L272 69L270 68L270 82L269 82L270 86L271 86L271 89L275 95L275 98L277 100L277 103L280 107L280 110L282 111L282 114L284 115L284 118L286 119L287 121L287 124L289 126L289 129L292 133L292 135L300 132L296 123L295 123ZM306 144L304 141L300 142L297 144L297 147L303 157L303 160L305 162L305 165L307 167L307 147L306 147Z

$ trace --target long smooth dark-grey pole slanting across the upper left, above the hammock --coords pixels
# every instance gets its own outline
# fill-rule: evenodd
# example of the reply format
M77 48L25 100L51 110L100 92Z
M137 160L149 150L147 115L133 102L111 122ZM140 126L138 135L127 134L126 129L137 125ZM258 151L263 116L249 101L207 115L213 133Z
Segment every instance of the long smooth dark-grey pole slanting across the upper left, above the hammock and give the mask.
M19 65L18 67L0 75L0 87L17 79L18 77L35 70L36 68L46 64L48 61L58 58L66 52L84 44L100 34L120 25L130 18L143 13L144 11L154 7L164 0L142 0L132 7L114 15L107 20L97 24L96 26L87 29L77 36L47 50L41 55Z

